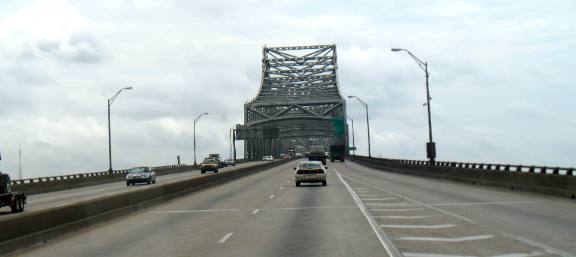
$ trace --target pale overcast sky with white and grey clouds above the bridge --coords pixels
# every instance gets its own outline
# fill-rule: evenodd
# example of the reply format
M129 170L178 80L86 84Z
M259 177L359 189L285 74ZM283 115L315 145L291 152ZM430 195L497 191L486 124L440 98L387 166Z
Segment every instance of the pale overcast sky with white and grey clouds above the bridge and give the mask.
M576 166L576 2L1 1L0 170L25 177L228 156L262 47L337 45L341 92L370 106L372 154L425 159L429 62L439 160ZM367 153L364 110L357 154ZM242 148L241 142L238 142Z

